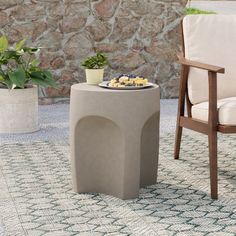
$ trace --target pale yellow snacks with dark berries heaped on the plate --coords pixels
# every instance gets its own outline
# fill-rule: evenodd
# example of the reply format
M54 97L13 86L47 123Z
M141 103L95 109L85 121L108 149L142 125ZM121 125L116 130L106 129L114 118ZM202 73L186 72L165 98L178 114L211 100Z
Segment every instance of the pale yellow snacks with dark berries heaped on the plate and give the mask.
M148 84L148 80L135 75L121 75L112 79L109 83L109 87L142 87Z

